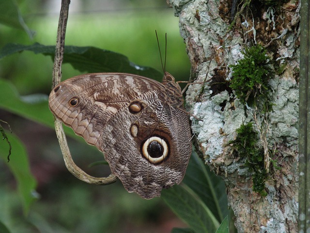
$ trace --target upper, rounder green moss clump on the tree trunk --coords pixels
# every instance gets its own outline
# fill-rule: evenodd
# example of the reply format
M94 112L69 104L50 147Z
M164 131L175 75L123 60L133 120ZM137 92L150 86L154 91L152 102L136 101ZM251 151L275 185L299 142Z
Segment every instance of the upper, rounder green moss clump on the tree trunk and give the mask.
M242 103L254 101L254 97L264 96L267 99L268 80L274 77L269 66L270 60L261 45L246 48L243 59L232 65L233 78L230 87ZM255 101L254 101L255 104Z

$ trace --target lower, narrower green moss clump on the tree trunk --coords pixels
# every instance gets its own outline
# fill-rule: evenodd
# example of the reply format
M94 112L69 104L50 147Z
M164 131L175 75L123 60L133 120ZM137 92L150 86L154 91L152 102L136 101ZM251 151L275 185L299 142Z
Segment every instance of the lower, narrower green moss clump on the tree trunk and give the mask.
M245 166L252 172L253 191L266 196L264 189L267 172L264 168L264 153L257 145L258 137L253 123L242 124L236 132L238 133L236 139L230 143L233 144L233 149L238 155L246 159Z

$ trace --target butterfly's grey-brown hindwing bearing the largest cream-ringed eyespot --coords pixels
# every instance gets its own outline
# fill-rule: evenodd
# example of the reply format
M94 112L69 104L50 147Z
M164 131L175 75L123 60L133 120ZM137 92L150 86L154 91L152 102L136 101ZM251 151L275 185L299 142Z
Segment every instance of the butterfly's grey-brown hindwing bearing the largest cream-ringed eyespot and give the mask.
M128 120L129 133L115 132L106 141L110 148L103 150L106 160L128 192L145 199L160 196L162 188L180 183L184 177L191 154L187 115L157 100L140 114L130 114Z

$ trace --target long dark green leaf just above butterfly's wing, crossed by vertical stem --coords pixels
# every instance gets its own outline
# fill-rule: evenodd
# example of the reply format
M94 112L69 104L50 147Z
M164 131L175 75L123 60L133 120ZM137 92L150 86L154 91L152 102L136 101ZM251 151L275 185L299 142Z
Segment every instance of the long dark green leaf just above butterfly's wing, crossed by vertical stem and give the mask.
M49 55L54 59L55 46L45 46L39 43L33 45L7 44L0 50L0 59L21 51L32 51ZM102 50L95 47L65 46L63 63L70 63L81 72L121 72L131 73L157 81L162 80L162 74L151 67L140 67L120 53Z

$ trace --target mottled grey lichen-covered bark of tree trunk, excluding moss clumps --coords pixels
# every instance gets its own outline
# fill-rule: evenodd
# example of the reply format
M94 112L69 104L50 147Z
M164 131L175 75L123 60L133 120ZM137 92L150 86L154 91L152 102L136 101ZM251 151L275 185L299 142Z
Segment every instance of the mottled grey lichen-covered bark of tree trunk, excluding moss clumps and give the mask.
M300 1L274 7L265 2L239 1L236 17L232 17L230 0L168 0L179 17L191 78L205 81L204 89L193 84L186 93L187 110L202 119L191 117L194 140L205 162L224 178L238 232L294 233L298 219ZM244 106L229 88L229 66L242 58L246 46L255 44L263 45L272 64L283 68L272 67L276 75L269 80L269 92L274 105L266 118ZM253 192L245 159L236 156L228 143L235 139L236 129L250 121L261 137L260 146L280 167L270 166L265 197Z

